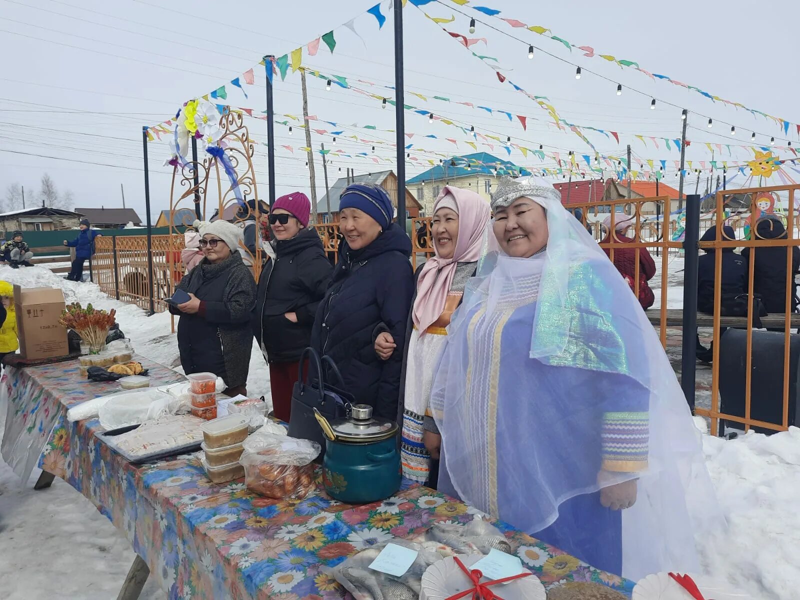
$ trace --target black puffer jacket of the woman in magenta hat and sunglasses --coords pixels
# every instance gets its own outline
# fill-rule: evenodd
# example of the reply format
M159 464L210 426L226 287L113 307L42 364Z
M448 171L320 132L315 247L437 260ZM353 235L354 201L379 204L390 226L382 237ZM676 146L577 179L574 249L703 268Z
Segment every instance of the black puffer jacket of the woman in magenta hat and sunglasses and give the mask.
M319 302L334 268L314 227L294 238L274 243L275 260L268 260L258 278L253 334L269 362L294 362L309 345ZM286 313L297 314L293 323Z

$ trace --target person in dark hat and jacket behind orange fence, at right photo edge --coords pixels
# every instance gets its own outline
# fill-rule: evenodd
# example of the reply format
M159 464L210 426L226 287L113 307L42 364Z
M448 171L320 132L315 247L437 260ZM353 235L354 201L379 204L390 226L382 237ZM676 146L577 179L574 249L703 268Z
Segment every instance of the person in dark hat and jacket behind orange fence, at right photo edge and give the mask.
M756 225L756 240L758 239L786 239L786 227L774 218L764 218ZM742 256L750 260L750 248L742 250ZM760 294L768 313L786 312L786 246L757 248L753 258L753 290ZM800 250L792 247L792 311L798 306L797 289L794 275L800 270Z

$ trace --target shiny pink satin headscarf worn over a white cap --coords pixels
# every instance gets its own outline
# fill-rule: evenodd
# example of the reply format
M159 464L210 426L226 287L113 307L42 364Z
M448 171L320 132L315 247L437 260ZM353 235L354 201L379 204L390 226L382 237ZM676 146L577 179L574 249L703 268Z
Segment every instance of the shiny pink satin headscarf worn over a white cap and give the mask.
M445 309L447 293L450 291L458 262L475 262L480 258L483 234L491 217L489 202L475 192L454 186L445 186L436 198L434 214L442 199L447 197L452 198L458 206L458 239L453 258L441 258L438 253L434 254L428 258L419 274L417 298L414 300L411 317L420 335L425 333Z

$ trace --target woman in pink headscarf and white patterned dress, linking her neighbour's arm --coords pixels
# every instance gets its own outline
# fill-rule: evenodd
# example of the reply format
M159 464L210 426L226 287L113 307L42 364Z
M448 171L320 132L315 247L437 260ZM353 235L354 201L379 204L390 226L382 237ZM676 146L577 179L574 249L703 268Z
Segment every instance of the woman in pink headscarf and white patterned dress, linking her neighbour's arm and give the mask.
M434 205L430 226L435 253L417 270L416 292L406 328L398 423L402 426L402 470L406 478L435 487L442 438L428 410L434 369L450 317L461 304L464 284L475 273L491 210L478 194L446 186ZM384 360L394 339L375 330L375 352Z

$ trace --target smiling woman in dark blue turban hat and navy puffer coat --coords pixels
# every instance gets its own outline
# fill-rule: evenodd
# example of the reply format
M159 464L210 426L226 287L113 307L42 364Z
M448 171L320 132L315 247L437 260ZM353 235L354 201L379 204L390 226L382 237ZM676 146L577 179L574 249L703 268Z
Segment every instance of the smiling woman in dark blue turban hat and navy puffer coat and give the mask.
M408 311L414 294L411 240L392 222L394 207L381 186L354 183L339 198L339 262L317 311L311 346L338 366L346 391L374 415L398 417ZM394 352L382 360L373 335L386 331Z

